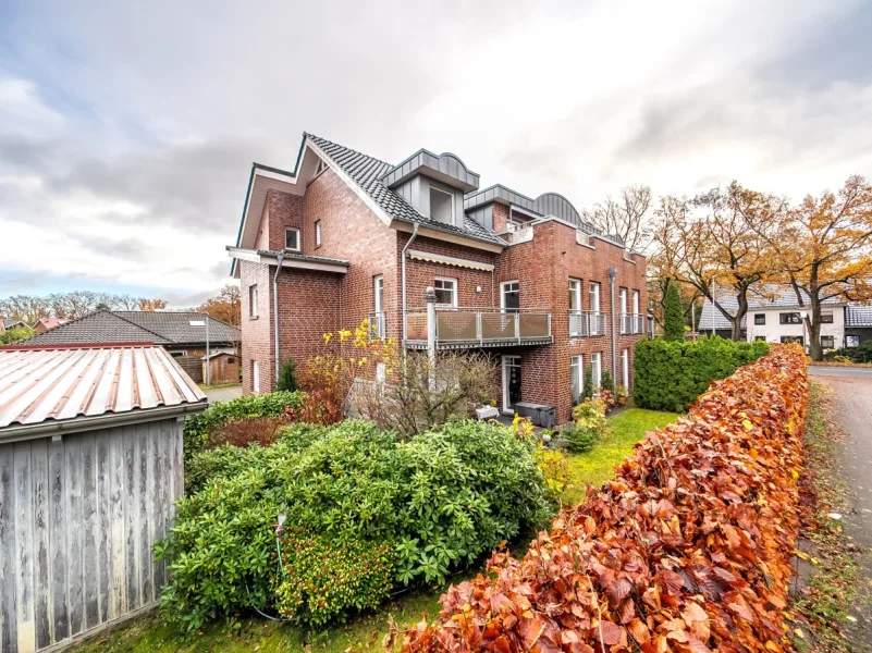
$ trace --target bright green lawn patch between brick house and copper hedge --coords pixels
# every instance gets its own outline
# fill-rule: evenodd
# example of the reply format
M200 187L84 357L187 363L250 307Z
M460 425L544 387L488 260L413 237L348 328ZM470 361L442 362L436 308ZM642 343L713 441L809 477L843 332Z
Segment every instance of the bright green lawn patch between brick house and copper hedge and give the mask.
M646 431L678 419L675 412L628 408L611 418L606 427L605 438L591 451L584 454L567 454L570 486L563 493L563 503L576 505L585 500L588 484L601 485L614 475L615 465L632 453L637 442L644 440Z

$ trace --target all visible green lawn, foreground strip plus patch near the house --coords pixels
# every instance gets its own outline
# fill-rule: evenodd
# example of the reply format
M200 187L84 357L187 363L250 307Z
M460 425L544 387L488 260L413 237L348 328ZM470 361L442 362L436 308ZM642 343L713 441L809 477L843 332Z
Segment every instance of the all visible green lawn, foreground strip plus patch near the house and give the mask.
M586 454L569 454L573 486L564 493L564 503L575 505L585 497L587 483L598 485L610 479L614 466L621 463L632 446L644 438L646 431L664 427L678 416L673 412L629 408L609 420L605 439ZM518 552L520 553L520 552ZM472 572L455 576L458 582ZM388 616L406 626L426 615L432 620L440 611L441 591L420 589L397 595L376 613L361 616L351 624L337 625L323 632L308 632L290 624L262 618L221 620L204 628L200 634L181 634L177 627L163 624L158 615L142 617L114 632L81 644L76 653L261 653L309 650L311 653L344 653L348 650L373 652L381 650Z

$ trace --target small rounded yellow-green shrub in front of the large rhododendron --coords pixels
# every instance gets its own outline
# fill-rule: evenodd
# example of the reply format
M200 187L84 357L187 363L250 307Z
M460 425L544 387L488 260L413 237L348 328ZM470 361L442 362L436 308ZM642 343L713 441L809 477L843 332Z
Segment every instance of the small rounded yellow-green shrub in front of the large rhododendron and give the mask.
M282 574L275 609L316 627L345 621L351 612L377 607L391 591L390 544L352 539L334 543L294 528L282 538Z

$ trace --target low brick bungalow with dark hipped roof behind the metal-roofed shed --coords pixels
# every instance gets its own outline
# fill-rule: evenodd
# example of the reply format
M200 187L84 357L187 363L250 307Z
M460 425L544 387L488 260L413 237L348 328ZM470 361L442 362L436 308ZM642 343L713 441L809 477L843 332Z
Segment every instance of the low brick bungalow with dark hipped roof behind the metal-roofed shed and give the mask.
M194 311L98 310L37 333L24 344L153 343L167 349L194 381L201 383L207 319L209 348L235 350L241 340L238 329Z

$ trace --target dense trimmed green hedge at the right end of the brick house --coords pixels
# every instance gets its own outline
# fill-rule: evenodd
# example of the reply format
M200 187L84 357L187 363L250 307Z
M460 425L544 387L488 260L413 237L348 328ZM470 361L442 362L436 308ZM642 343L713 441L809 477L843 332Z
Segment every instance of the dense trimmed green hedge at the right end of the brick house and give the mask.
M736 368L765 356L762 341L738 343L721 337L696 342L642 340L636 344L632 396L640 408L684 412L709 387Z

